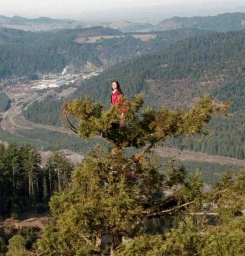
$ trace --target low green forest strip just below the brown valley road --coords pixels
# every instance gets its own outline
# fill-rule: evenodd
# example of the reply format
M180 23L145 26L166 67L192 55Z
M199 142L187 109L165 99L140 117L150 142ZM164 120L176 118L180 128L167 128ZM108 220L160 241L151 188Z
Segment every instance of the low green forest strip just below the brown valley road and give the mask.
M41 128L18 130L18 134L11 134L5 130L0 130L0 140L6 141L10 144L15 144L17 147L22 147L22 145L28 143L32 148L37 148L40 151L56 151L59 148L62 150L69 149L82 155L86 155L88 149L95 147L97 144L108 148L106 141L99 137L86 141L82 138L77 138L76 135L62 134L57 131ZM167 144L165 144L165 146L167 146ZM133 152L136 153L137 150L129 148L126 149L125 154L130 155L133 154ZM160 155L157 156L159 164L167 162L168 160L170 159L167 157L162 157ZM215 186L219 177L221 177L225 172L235 173L242 168L235 165L202 162L200 160L183 161L176 159L172 164L176 167L181 167L183 165L186 170L188 170L188 175L199 170L203 182L211 186ZM160 168L160 171L162 170L165 170L165 168Z

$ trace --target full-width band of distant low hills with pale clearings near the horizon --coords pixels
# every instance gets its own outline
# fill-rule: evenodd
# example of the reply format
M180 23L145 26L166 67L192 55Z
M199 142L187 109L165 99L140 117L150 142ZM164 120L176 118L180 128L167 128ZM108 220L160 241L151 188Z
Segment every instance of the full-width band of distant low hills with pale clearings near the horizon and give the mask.
M245 28L245 13L224 13L216 16L205 17L173 17L164 19L155 24L135 23L126 20L107 21L76 21L70 19L51 19L47 17L27 19L19 16L0 16L0 26L28 31L60 30L67 28L87 28L104 26L130 31L162 31L176 28L198 28L202 30L229 31Z

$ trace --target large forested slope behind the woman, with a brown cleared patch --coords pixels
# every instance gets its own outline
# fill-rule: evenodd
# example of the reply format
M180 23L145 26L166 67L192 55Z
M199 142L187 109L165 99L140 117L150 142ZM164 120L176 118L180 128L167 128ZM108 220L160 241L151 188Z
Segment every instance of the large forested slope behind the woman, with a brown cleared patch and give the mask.
M109 84L117 79L127 97L145 92L146 104L165 104L173 108L191 106L194 99L209 92L218 100L230 100L228 119L213 119L211 137L193 139L188 148L208 154L244 158L245 107L245 30L228 33L209 33L177 42L158 53L140 56L118 64L85 81L72 97L89 94L94 101L109 107ZM48 120L58 109L59 102L35 103L24 112L30 121ZM48 106L47 108L45 106ZM41 110L41 111L40 111ZM45 122L47 123L47 122ZM180 146L183 139L172 141Z

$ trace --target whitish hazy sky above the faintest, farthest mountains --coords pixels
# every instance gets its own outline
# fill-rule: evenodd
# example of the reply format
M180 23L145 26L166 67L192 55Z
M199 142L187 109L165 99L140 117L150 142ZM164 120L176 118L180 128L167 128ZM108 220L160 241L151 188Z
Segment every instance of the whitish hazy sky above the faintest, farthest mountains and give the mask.
M245 5L241 0L0 0L0 15L20 15L27 18L48 16L73 18L79 13L108 12L121 8L169 6L173 12L178 6L187 8L229 8ZM233 10L231 10L232 12ZM108 17L109 19L109 17Z

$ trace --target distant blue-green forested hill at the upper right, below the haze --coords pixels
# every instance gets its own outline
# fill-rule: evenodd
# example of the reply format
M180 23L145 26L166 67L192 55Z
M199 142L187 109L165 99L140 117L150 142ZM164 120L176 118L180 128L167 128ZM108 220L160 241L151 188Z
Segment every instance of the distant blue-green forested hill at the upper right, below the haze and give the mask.
M206 17L173 17L158 23L154 30L169 30L174 28L198 28L219 32L240 30L245 28L245 13L224 13Z

